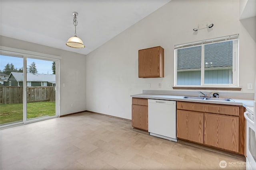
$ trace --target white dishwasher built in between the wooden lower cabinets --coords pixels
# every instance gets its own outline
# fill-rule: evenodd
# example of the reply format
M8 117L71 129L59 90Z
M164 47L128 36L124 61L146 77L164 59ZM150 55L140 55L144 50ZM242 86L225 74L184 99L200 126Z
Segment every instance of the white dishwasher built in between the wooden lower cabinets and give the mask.
M176 101L148 99L148 132L177 142Z

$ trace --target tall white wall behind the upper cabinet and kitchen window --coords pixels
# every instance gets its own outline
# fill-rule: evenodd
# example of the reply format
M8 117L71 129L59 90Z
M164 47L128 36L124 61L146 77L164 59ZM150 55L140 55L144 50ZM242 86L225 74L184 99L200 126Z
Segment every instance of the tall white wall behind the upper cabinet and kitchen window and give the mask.
M195 34L203 21L214 23L212 31ZM256 43L239 21L239 2L172 0L86 56L87 110L131 119L130 95L148 89L147 83L150 90L172 90L174 45L238 33L239 86L253 93L247 83L254 82ZM158 45L164 48L164 78L138 78L138 50Z

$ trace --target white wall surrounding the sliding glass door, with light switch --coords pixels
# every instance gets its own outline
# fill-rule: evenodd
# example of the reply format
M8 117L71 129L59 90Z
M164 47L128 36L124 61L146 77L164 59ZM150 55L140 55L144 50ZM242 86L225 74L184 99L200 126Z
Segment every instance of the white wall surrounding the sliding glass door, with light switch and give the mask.
M62 57L60 59L60 115L86 110L86 56L29 43L9 37L0 37L0 45ZM65 45L65 43L64 43ZM62 84L66 86L63 87ZM71 104L74 104L71 107Z

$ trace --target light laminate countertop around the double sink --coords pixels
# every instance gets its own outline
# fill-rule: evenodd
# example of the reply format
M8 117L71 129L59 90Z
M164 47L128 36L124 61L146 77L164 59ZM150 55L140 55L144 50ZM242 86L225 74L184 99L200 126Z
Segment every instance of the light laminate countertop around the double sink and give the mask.
M209 103L209 104L226 104L226 105L236 105L236 106L253 106L253 100L246 99L234 99L234 102L230 101L215 101L215 100L197 100L197 99L183 99L184 96L172 96L164 94L134 94L131 95L134 98L147 98L147 99L158 99L158 100L173 100L173 101L183 101L183 102L199 102L199 103Z

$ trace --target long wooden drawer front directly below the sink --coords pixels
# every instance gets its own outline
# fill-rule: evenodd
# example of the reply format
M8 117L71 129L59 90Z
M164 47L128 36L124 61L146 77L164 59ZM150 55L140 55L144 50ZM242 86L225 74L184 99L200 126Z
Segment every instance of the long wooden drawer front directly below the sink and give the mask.
M177 102L177 109L239 116L239 106Z

